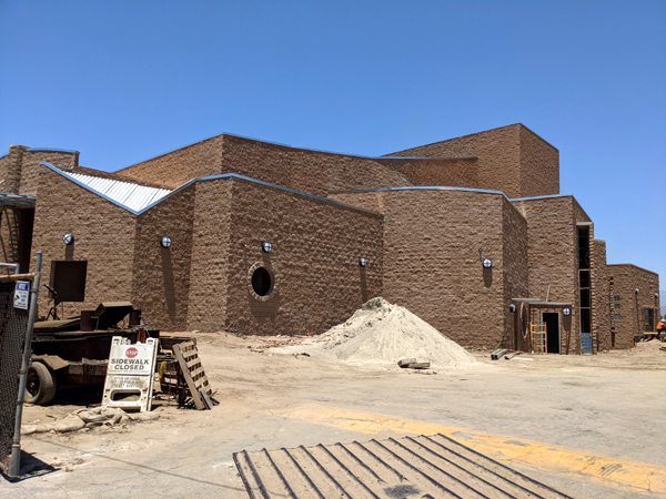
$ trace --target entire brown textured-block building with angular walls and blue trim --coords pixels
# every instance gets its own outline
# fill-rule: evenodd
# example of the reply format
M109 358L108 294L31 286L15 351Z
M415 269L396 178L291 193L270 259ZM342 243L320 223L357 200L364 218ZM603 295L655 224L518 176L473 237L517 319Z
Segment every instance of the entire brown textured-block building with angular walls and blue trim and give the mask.
M529 350L546 324L561 354L658 318L658 276L606 265L558 151L522 124L379 157L223 134L113 174L78 162L0 157L0 259L42 249L65 315L131 301L165 330L309 335L381 295L466 347Z

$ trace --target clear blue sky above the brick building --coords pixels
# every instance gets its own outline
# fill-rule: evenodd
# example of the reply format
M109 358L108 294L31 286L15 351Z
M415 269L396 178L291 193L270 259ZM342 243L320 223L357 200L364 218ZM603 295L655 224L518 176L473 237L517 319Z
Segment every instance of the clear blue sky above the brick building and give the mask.
M380 155L516 122L608 262L666 288L665 0L0 0L0 154L114 171L230 132Z

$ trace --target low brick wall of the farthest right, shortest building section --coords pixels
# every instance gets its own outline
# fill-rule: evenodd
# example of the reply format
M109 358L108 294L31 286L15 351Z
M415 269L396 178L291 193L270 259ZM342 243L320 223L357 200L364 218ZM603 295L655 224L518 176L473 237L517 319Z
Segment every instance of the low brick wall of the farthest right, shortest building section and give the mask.
M644 308L654 309L656 327L659 317L659 276L654 272L646 271L630 264L618 264L607 266L607 276L612 279L612 296L619 296L620 308L614 309L613 314L619 314L619 320L612 320L610 326L615 328L615 348L632 348L634 335L645 333L643 327ZM639 291L636 294L636 289Z

